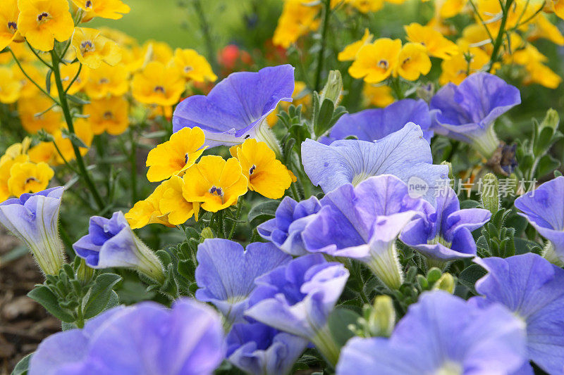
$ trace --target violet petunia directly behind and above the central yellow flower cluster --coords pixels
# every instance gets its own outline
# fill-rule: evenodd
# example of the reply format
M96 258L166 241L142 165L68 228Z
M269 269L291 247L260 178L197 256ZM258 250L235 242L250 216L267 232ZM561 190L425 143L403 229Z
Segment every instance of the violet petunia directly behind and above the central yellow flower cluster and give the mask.
M205 146L233 146L247 138L271 143L266 117L281 101L292 101L294 68L278 65L258 72L235 72L207 96L193 95L178 103L173 132L200 127Z

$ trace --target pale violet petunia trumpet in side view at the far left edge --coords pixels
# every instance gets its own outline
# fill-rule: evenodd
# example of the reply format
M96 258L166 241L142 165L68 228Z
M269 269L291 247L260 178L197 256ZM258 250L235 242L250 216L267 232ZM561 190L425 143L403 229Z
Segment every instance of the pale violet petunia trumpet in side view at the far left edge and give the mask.
M59 238L59 208L65 188L23 193L0 203L0 223L29 248L45 274L59 274L64 248Z

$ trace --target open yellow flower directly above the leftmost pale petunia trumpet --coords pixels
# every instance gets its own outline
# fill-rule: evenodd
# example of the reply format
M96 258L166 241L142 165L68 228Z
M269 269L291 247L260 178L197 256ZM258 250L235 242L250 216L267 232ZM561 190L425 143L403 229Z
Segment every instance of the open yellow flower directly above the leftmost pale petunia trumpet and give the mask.
M47 189L54 175L54 170L47 163L15 163L10 168L8 189L16 197L23 193L37 193Z

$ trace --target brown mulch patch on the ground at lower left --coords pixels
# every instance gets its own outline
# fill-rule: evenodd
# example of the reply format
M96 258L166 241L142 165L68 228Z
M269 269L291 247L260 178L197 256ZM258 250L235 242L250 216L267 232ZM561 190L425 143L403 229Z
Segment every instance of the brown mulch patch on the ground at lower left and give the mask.
M0 225L0 256L18 244ZM0 375L10 374L43 338L61 329L58 319L26 295L42 281L43 276L30 254L0 263Z

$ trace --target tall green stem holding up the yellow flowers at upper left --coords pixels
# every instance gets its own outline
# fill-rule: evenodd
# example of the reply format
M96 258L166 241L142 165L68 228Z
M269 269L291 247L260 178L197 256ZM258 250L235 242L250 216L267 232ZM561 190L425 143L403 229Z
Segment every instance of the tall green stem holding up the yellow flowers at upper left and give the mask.
M59 92L59 101L61 101L61 109L63 110L63 115L65 116L66 125L68 127L68 131L75 134L75 127L73 125L73 116L71 115L71 108L68 106L68 101L66 98L66 92L63 89L63 82L61 81L61 71L59 70L59 56L55 53L55 51L51 51L51 59L53 60L53 75L55 77L55 84L57 87L57 91ZM99 210L103 210L106 207L106 203L102 199L99 191L96 189L96 185L92 181L92 177L90 177L90 173L86 170L86 166L84 160L82 159L82 155L80 155L80 149L74 142L71 141L73 145L73 151L75 152L76 157L76 164L78 165L78 170L80 170L80 175L84 179L90 193L92 193L92 197L94 201L98 205Z

